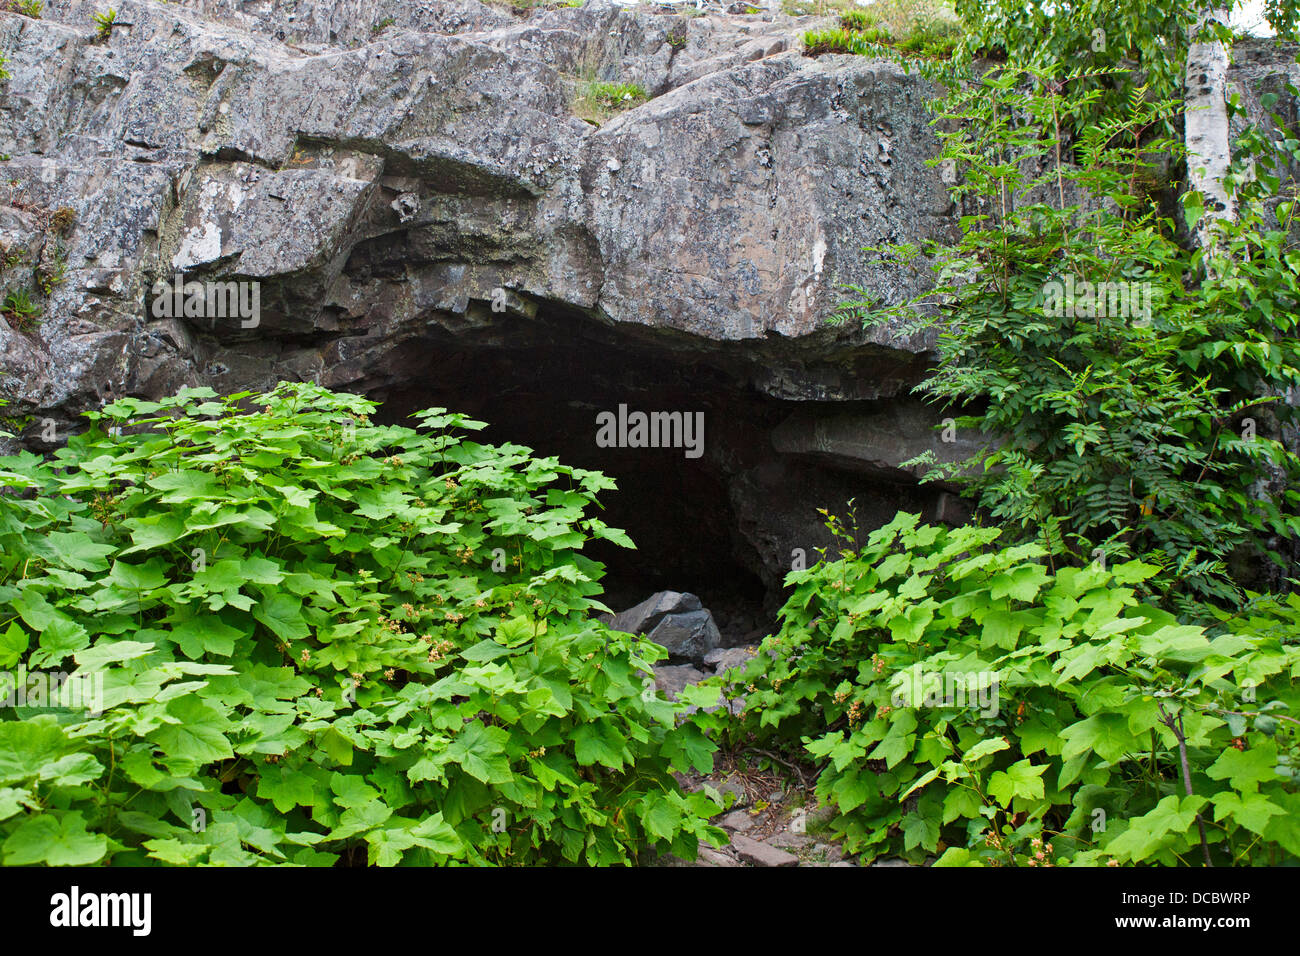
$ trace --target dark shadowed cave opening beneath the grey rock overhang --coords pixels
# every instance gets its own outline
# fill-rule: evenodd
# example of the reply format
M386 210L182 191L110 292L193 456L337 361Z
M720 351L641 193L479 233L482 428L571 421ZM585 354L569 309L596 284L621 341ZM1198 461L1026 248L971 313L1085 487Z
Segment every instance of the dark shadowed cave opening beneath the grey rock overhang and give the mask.
M774 428L807 403L754 389L734 355L701 360L698 350L666 347L651 332L644 341L585 317L521 321L517 333L495 329L486 341L464 330L430 334L394 359L399 384L369 394L384 421L446 407L488 423L477 441L525 445L612 477L618 489L601 496L601 518L637 549L594 541L584 553L604 564L602 600L615 611L658 591L690 592L714 613L724 644L757 641L771 632L789 570L774 570L772 554L801 546L811 564L814 549L829 544L805 531L820 528L818 507L842 514L849 498L864 496L870 523L887 520L890 505L913 493L879 476L780 455ZM602 447L597 416L618 415L620 405L701 414L702 453ZM872 499L880 507L871 509Z

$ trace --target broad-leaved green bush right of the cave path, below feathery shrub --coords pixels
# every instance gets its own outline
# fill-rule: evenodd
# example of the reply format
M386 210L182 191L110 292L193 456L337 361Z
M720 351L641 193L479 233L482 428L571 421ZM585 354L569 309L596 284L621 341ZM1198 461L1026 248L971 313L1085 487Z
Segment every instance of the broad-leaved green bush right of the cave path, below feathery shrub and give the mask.
M1261 606L1208 633L1139 602L1156 571L1140 562L1052 574L1037 545L997 549L997 529L898 515L858 548L828 527L840 557L786 578L781 630L740 678L741 718L696 719L801 744L850 852L1300 858L1300 600L1290 623Z

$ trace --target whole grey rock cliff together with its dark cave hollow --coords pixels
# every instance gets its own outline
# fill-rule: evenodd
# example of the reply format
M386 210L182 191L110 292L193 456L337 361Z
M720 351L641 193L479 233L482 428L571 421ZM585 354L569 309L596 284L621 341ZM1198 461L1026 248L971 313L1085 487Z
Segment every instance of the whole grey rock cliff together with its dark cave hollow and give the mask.
M0 395L27 445L181 385L445 405L614 473L629 574L706 597L771 594L818 507L948 507L897 467L961 450L906 397L928 343L826 323L845 284L923 281L862 247L956 235L915 74L805 57L811 21L772 13L122 0L99 35L104 7L0 13L0 281L39 310L0 321ZM590 122L593 81L649 99ZM256 321L157 315L176 274L257 282ZM597 447L619 405L705 412L705 454Z

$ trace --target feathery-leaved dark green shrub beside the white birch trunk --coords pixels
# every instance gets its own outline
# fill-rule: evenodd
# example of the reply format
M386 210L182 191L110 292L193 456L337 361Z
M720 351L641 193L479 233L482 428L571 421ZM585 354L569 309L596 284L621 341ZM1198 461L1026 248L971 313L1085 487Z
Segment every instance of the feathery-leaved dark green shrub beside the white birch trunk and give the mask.
M1143 131L1173 104L1134 91L1069 164L1070 79L1002 70L946 100L936 124L959 172L954 199L983 212L963 217L954 247L905 251L935 271L931 293L846 315L937 330L940 367L922 392L966 403L954 424L989 444L930 479L963 485L1053 562L1158 564L1147 592L1204 614L1197 602L1242 600L1234 562L1286 570L1278 551L1300 536L1300 496L1286 486L1300 459L1279 440L1291 410L1278 401L1300 385L1300 250L1278 174L1297 143L1240 140L1257 178L1238 177L1240 221L1222 233L1225 263L1206 264L1152 193L1156 160L1178 148Z

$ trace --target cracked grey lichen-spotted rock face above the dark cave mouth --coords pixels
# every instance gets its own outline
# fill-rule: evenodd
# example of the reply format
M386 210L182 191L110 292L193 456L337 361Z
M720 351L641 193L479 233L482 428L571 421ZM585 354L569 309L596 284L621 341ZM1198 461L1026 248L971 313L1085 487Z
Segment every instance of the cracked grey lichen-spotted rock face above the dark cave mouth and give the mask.
M0 13L0 243L26 255L5 278L64 263L34 329L0 324L20 414L182 384L369 390L410 375L398 355L433 362L432 330L499 339L556 310L658 349L749 343L779 397L897 392L884 369L926 345L823 320L844 282L916 290L862 246L956 228L924 165L931 91L805 57L809 18L124 0L99 38L96 9ZM594 125L572 112L593 79L649 99ZM155 319L177 272L261 282L259 325ZM859 375L868 346L900 358Z

